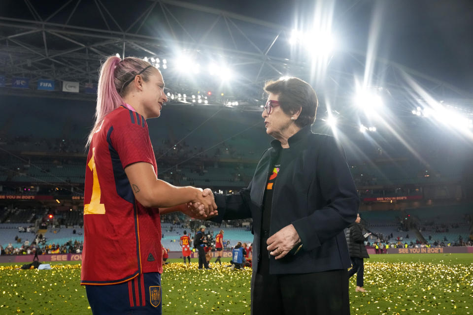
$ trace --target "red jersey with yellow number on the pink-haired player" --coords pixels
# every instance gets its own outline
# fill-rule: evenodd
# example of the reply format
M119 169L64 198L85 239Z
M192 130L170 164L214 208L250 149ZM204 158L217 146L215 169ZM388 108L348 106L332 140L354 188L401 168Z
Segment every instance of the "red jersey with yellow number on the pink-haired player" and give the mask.
M92 137L84 192L81 284L118 284L140 273L163 272L159 209L135 196L125 167L156 158L143 116L119 107Z

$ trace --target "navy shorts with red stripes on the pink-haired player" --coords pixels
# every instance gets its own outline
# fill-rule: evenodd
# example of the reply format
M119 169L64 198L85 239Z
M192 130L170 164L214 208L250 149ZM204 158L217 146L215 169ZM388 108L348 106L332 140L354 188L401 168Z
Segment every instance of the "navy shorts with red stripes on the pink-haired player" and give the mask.
M122 284L86 285L94 315L161 315L161 275L139 274Z

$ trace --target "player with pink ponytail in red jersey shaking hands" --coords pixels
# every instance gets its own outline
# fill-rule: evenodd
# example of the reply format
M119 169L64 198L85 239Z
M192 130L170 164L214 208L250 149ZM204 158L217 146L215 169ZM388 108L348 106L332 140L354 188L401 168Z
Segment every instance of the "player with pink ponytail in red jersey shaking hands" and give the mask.
M202 218L216 209L202 189L157 179L146 119L159 117L167 100L163 77L148 62L103 63L88 141L81 270L94 315L161 314L160 214ZM204 206L191 213L193 200Z

